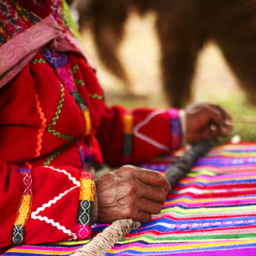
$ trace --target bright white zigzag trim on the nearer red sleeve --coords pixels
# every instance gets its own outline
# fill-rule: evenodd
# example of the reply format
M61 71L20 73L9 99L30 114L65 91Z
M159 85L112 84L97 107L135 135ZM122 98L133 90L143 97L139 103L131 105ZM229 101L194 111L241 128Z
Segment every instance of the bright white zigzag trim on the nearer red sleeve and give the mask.
M66 229L65 226L62 226L60 223L54 221L53 219L49 219L46 216L39 215L39 213L41 211L43 211L44 209L46 209L47 207L50 207L51 205L56 203L58 200L63 198L63 196L67 195L67 193L69 193L70 191L74 190L75 188L78 188L80 186L80 182L77 181L74 177L72 177L72 175L69 172L65 171L64 169L57 169L57 168L53 168L51 166L45 166L45 167L50 168L53 171L57 171L57 172L61 172L61 173L65 174L68 177L68 179L70 179L70 181L72 181L72 183L75 186L72 186L72 188L67 189L63 193L60 193L58 196L55 196L53 199L49 200L49 202L44 203L41 207L38 207L34 212L31 213L31 217L34 220L38 219L38 220L44 221L46 223L49 223L53 227L57 227L58 230L63 231L63 233L68 234L68 236L71 236L72 238L77 239L77 235L75 233L72 233L71 230Z

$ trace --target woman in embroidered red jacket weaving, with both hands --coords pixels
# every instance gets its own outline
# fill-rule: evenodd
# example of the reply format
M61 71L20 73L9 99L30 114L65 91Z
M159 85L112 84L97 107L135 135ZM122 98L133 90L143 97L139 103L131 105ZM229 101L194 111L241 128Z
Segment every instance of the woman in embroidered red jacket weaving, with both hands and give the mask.
M126 164L229 132L230 116L209 103L185 112L108 108L64 1L0 8L1 251L84 239L95 221L147 222L168 182ZM92 165L103 161L123 166L94 181Z

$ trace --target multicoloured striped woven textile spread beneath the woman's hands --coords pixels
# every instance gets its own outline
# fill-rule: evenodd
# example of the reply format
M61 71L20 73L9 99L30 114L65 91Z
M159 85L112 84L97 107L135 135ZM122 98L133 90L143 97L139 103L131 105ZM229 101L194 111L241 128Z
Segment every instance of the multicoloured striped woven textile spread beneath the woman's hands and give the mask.
M170 160L141 166L164 172ZM94 234L105 227L96 225ZM88 241L23 245L3 255L69 255ZM169 193L161 213L106 255L256 255L256 143L212 148Z

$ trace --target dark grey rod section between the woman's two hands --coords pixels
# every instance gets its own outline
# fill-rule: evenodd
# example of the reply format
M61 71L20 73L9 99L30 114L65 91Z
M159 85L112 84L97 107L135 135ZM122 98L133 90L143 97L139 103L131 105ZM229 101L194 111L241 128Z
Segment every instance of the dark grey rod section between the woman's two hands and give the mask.
M210 139L205 139L194 144L179 159L173 162L165 172L165 178L171 185L171 189L178 184L179 180L185 177L186 173L192 168L196 160L204 155L212 147Z

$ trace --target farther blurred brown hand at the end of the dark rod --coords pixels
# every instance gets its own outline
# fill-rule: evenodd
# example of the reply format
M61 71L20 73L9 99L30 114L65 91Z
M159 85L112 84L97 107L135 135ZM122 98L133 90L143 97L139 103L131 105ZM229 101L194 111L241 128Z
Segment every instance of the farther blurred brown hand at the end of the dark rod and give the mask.
M193 103L186 108L187 142L195 143L210 137L227 136L232 129L230 115L211 103Z

